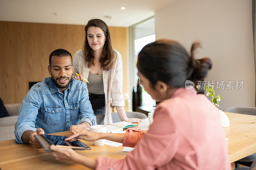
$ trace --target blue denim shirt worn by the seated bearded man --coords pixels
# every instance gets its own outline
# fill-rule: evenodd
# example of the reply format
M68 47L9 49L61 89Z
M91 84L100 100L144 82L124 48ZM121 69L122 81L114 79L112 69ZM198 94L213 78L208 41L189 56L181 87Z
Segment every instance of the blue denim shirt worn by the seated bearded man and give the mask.
M63 94L52 77L45 78L33 85L22 101L14 131L15 143L24 143L21 136L26 130L42 128L45 134L56 133L82 122L97 124L87 85L72 78Z

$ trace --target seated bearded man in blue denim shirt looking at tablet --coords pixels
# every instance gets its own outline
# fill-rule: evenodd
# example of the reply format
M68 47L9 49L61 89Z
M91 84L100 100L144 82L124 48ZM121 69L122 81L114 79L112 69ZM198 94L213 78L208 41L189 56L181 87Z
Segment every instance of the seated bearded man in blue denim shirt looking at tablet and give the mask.
M96 123L85 83L72 78L71 54L54 50L49 57L52 77L32 86L22 101L15 127L15 142L30 143L42 148L34 135L43 135L76 128L86 129Z

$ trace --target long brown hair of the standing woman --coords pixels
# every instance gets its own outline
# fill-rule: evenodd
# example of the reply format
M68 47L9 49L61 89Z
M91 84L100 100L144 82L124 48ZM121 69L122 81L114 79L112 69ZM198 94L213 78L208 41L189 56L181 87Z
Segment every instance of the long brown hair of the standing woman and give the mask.
M92 65L94 65L94 54L93 54L93 50L90 47L88 40L87 40L87 30L89 27L94 26L94 27L99 27L102 29L102 31L105 34L106 37L106 41L103 47L103 51L101 53L100 56L100 63L101 63L101 69L102 70L111 70L112 67L114 66L115 63L115 56L116 53L115 51L112 49L112 43L111 43L111 39L110 39L110 31L108 29L107 24L100 20L100 19L91 19L88 21L87 25L85 26L84 30L85 30L85 40L84 40L84 62L88 63L88 66L91 67Z

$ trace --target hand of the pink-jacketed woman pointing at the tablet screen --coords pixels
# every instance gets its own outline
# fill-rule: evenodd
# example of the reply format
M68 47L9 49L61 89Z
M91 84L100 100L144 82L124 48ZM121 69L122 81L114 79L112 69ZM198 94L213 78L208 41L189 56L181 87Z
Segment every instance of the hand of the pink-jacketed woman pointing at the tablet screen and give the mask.
M100 139L102 133L96 133L96 132L91 132L89 130L76 128L73 134L74 135L66 138L65 140L74 141L76 138L78 138L78 139L84 139L86 141L95 141Z

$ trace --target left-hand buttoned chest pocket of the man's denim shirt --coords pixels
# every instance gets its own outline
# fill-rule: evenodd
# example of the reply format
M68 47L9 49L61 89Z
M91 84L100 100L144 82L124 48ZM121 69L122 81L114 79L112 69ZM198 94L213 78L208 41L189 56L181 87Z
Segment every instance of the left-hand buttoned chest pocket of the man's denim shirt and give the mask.
M60 123L61 106L45 106L44 121L49 124Z

